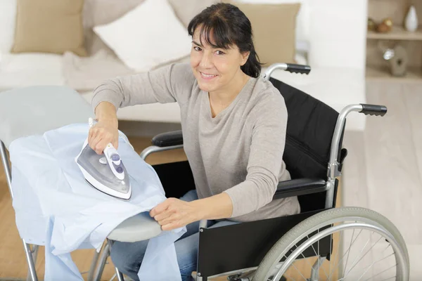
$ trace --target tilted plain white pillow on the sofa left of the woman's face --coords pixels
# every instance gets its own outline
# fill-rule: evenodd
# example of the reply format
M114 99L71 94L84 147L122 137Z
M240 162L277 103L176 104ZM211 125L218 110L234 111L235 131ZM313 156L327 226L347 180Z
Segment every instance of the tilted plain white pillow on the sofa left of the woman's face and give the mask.
M129 13L94 32L137 72L179 60L191 51L188 31L167 0L146 0Z

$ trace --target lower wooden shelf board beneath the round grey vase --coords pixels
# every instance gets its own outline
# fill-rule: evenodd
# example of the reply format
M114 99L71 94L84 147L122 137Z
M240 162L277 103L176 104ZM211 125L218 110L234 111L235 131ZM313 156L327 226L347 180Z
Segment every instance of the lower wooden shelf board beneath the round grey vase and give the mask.
M395 77L387 67L374 67L366 65L367 81L397 81L405 83L422 83L422 68L410 68L404 77Z

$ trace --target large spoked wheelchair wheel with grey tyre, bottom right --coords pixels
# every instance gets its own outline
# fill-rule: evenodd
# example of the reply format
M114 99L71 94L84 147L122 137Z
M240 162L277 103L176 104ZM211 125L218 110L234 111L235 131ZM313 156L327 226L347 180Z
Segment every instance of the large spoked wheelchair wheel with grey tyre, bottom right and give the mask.
M409 254L399 230L381 214L359 207L328 209L283 235L252 280L278 281L282 277L407 281Z

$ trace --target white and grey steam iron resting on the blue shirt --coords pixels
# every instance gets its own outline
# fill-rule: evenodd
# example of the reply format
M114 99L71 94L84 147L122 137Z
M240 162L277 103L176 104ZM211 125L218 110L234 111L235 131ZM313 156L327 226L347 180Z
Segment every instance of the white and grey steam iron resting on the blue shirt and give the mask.
M90 118L89 127L91 126ZM132 196L129 175L119 153L111 143L107 145L102 155L98 155L89 147L87 138L75 162L84 174L85 180L97 190L123 200L129 200Z

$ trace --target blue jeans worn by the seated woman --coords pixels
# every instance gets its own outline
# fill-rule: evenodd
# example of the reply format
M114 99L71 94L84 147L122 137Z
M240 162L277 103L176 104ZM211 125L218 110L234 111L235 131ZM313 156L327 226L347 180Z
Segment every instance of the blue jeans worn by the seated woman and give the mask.
M191 202L198 200L196 190L187 192L180 200ZM234 221L208 221L208 227L216 228L235 224ZM192 280L192 271L196 271L196 257L199 243L199 221L186 226L186 233L179 240L174 242L176 248L177 262L181 273L181 280ZM111 247L111 259L121 273L139 280L138 271L141 267L143 255L145 254L148 240L139 242L114 242Z

